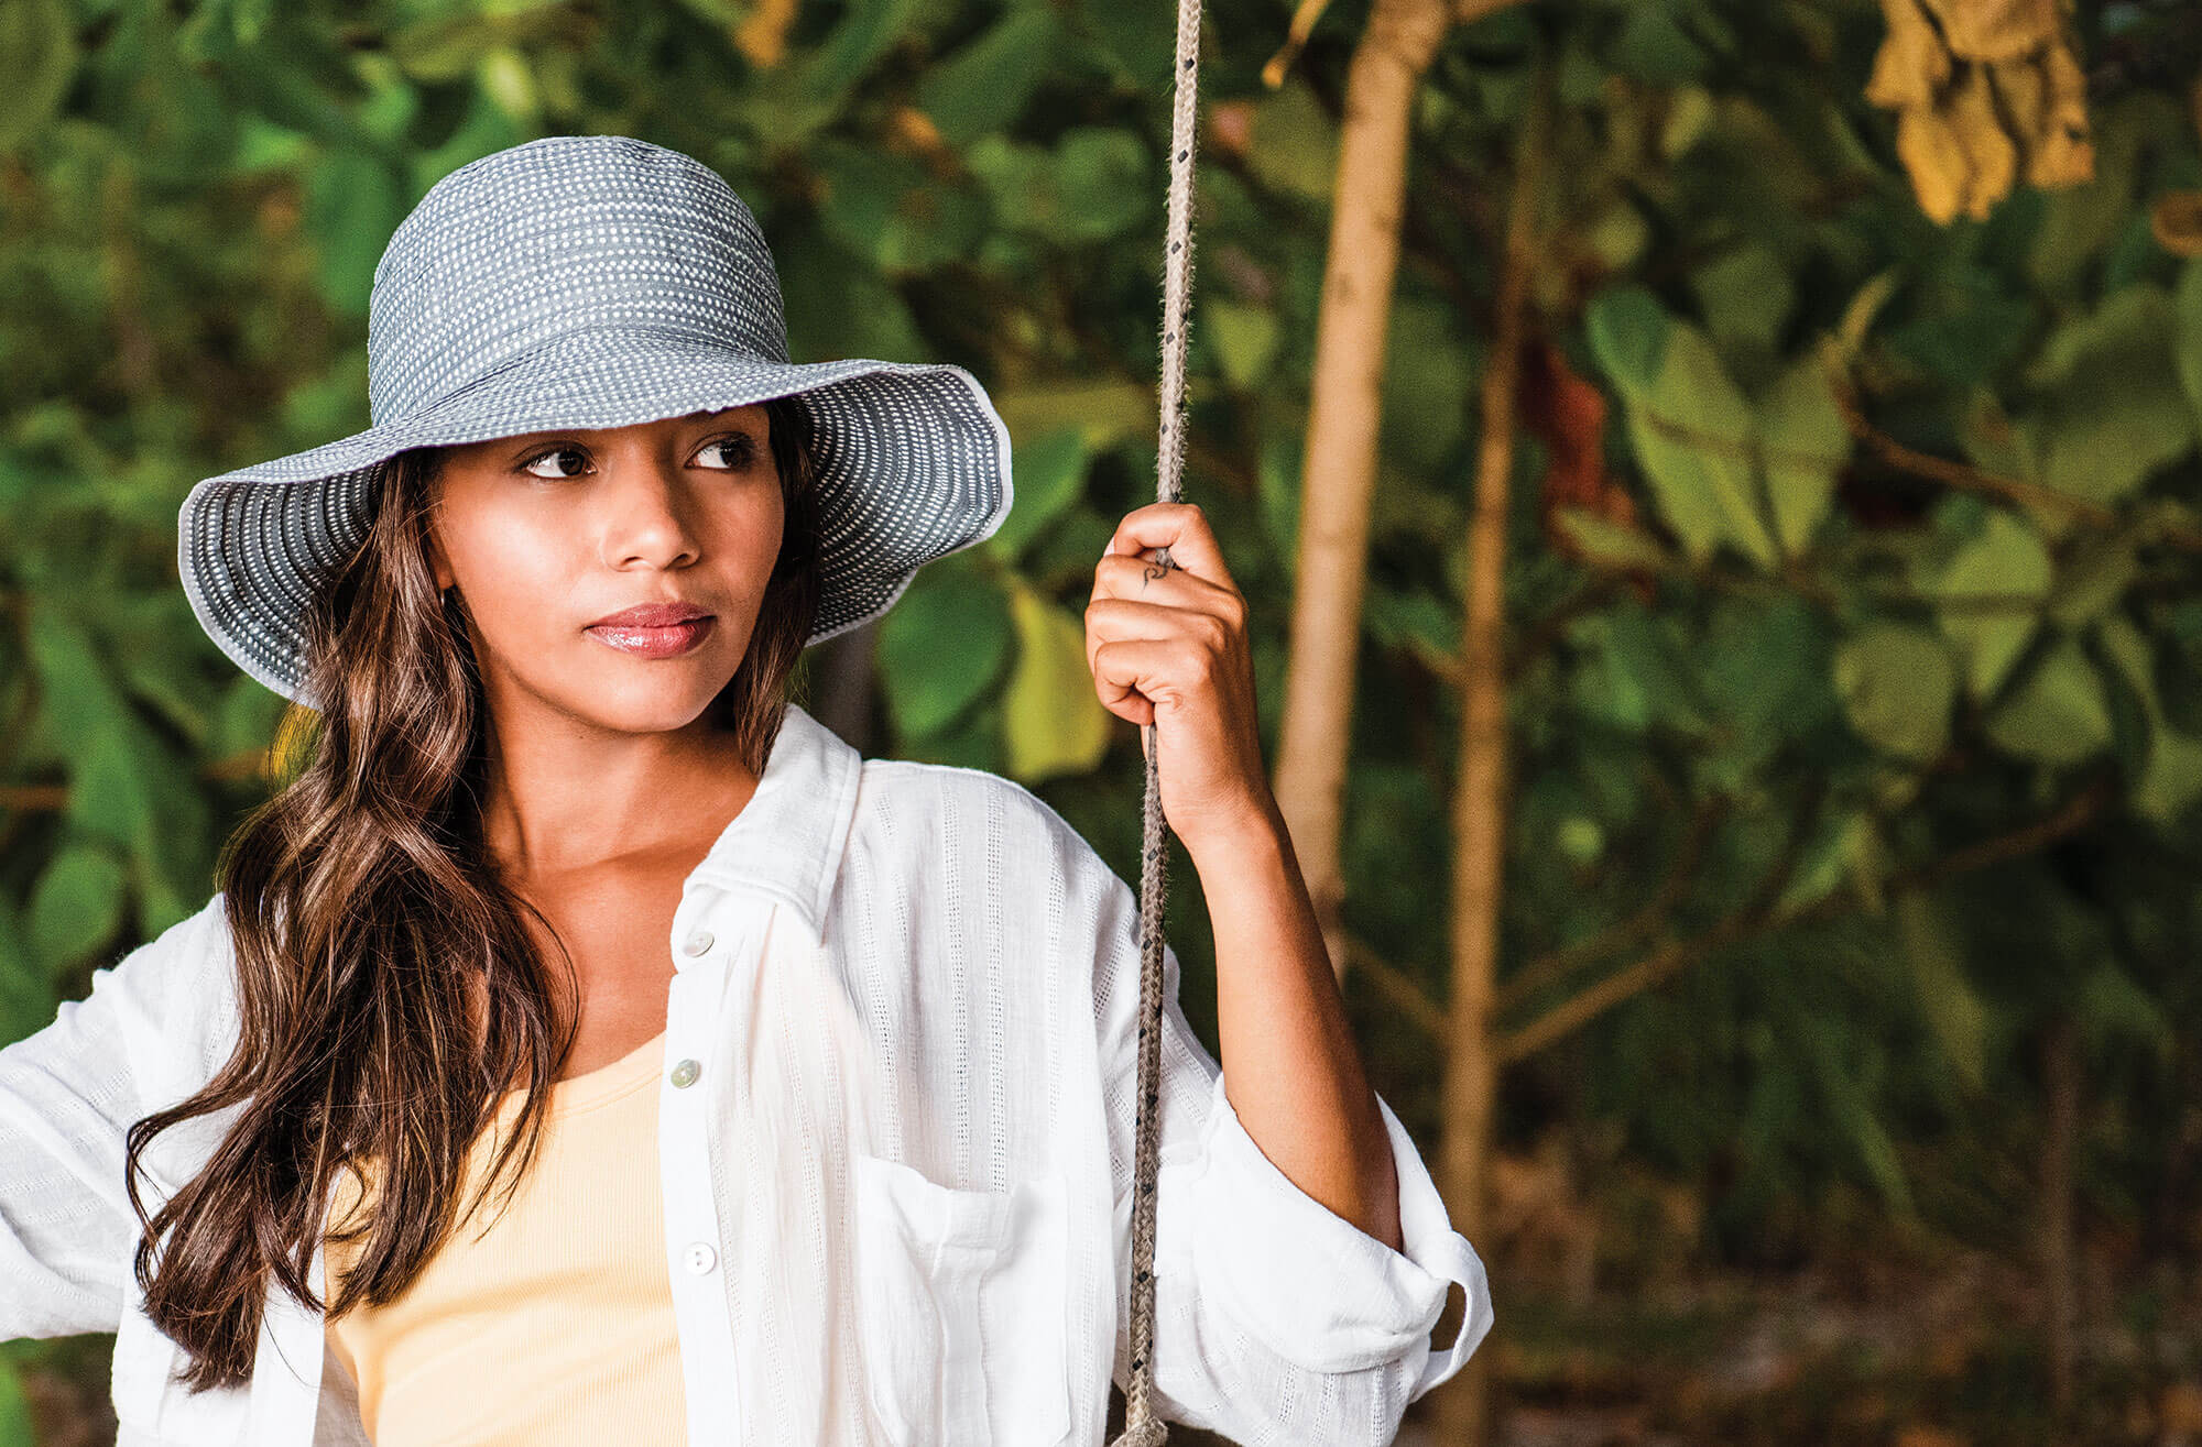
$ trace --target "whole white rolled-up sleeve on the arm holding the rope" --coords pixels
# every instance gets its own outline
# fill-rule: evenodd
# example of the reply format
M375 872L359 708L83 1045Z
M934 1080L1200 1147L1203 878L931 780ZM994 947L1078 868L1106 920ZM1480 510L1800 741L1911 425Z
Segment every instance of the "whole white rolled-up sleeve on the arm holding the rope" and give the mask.
M1072 847L1077 851L1077 847ZM1090 851L1088 851L1090 853ZM1138 1097L1138 902L1099 860L1094 1012L1116 1183L1116 1368L1130 1381L1132 1166ZM1178 1003L1163 950L1156 1183L1156 1410L1244 1443L1389 1443L1407 1403L1453 1377L1491 1330L1484 1264L1453 1231L1414 1139L1378 1095L1398 1174L1403 1251L1308 1196L1246 1135L1222 1067ZM1431 1330L1460 1286L1453 1341Z

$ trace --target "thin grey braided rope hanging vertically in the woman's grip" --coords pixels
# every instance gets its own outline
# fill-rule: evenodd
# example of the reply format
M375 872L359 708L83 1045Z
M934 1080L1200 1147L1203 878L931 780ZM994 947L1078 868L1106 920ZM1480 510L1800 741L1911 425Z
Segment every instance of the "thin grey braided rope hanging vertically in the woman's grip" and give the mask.
M1182 497L1185 473L1185 323L1193 292L1193 121L1200 103L1200 0L1178 0L1176 97L1169 117L1169 222L1163 253L1163 433L1156 453L1156 501ZM1163 567L1169 548L1158 550ZM1112 1447L1163 1447L1169 1432L1154 1416L1154 1179L1160 1152L1163 1075L1163 897L1169 855L1163 818L1163 772L1154 724L1141 726L1147 752L1145 827L1138 847L1138 1148L1132 1188L1132 1381L1125 1388L1123 1434Z

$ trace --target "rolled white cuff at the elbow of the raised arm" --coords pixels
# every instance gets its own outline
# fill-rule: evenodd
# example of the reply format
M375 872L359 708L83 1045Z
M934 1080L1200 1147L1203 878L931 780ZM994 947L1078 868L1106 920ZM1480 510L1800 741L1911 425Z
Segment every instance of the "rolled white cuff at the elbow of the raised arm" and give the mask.
M1299 1190L1246 1135L1218 1073L1207 1170L1196 1183L1200 1271L1238 1324L1279 1357L1317 1372L1414 1359L1420 1396L1460 1370L1491 1330L1484 1262L1453 1231L1436 1181L1398 1115L1376 1097L1398 1174L1394 1251ZM1429 1333L1451 1286L1467 1293L1453 1344Z

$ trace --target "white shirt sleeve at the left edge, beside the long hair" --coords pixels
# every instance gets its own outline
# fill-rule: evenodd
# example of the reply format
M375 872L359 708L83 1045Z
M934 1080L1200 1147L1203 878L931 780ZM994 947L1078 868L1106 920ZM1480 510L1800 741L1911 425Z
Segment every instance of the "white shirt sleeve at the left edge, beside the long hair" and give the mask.
M134 1067L174 1025L167 990L218 906L95 970L86 998L0 1047L0 1341L117 1330L139 1240L123 1190Z

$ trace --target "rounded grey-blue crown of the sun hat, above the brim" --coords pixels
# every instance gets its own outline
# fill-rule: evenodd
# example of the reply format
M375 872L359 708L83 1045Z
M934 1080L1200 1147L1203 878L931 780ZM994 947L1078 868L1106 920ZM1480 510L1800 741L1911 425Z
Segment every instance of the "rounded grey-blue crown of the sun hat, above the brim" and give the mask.
M370 416L416 416L592 330L788 361L755 216L711 167L632 136L546 136L469 161L374 266Z

